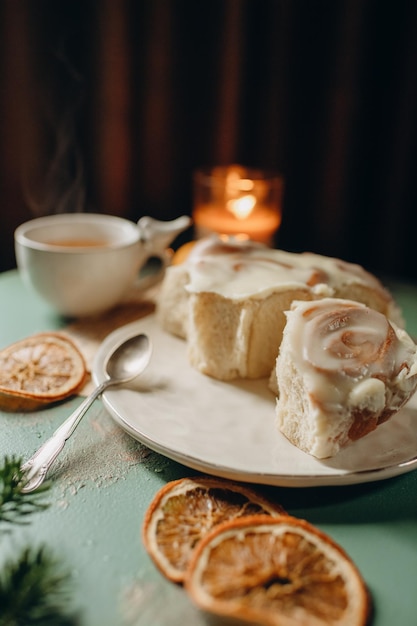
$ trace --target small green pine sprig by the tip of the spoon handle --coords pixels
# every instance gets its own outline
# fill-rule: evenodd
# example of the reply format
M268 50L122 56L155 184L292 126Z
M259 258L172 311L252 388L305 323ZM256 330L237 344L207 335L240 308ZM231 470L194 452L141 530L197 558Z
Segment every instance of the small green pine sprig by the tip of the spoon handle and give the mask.
M24 473L21 459L5 457L0 466L0 523L26 524L28 516L48 507L41 497L49 488L43 485L33 493L23 493Z

